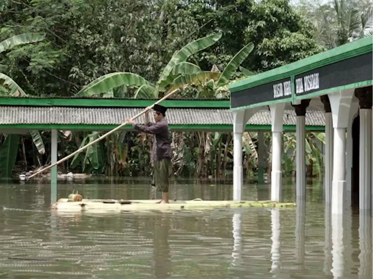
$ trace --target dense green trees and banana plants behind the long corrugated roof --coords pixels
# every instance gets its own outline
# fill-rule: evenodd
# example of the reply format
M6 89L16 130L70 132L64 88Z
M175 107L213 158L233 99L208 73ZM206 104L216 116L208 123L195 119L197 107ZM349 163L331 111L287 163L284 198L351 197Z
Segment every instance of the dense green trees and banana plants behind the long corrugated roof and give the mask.
M226 97L235 78L322 50L314 25L286 0L26 2L0 6L0 41L25 33L43 33L45 39L0 53L0 94L153 98L189 84L181 96ZM254 134L245 141L251 174L256 173ZM70 141L59 142L59 156L97 135L74 132ZM28 164L48 163L50 147L41 144L42 136L46 140L36 131L22 136ZM172 133L172 138L177 174L218 176L231 167L230 133ZM149 173L150 148L151 137L118 132L60 167ZM312 142L310 148L316 148Z

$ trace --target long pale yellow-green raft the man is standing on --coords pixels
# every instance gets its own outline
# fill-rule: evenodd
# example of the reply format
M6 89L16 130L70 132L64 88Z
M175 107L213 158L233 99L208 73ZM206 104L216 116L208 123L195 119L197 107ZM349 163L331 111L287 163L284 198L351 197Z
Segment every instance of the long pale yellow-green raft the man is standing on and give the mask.
M51 205L59 212L125 212L125 211L177 211L177 210L209 210L222 208L294 208L295 203L280 203L273 201L170 201L156 203L155 200L114 200L114 199L82 199L79 202L69 202L59 199Z

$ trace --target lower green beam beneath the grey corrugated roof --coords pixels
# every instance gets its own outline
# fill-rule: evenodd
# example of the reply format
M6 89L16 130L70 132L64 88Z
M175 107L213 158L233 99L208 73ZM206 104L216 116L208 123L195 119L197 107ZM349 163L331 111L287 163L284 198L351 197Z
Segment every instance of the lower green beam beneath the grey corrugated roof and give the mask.
M85 124L0 124L0 129L20 129L20 130L91 130L91 131L100 131L100 130L112 130L118 125L85 125ZM170 124L169 128L171 130L204 130L204 131L216 131L216 130L227 130L233 131L232 124L184 124L184 125L175 125ZM284 131L295 131L295 125L283 125ZM246 125L246 130L271 130L271 125ZM307 131L325 131L324 126L305 126ZM126 125L123 127L123 130L132 130L131 125Z

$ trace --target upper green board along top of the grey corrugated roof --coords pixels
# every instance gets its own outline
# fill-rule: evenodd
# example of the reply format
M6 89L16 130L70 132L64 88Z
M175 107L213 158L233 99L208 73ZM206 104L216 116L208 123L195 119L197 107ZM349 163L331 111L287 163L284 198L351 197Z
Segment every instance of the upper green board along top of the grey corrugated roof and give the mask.
M78 99L78 98L12 98L0 97L0 106L75 106L146 108L157 100L136 99ZM230 100L164 100L167 108L227 108Z

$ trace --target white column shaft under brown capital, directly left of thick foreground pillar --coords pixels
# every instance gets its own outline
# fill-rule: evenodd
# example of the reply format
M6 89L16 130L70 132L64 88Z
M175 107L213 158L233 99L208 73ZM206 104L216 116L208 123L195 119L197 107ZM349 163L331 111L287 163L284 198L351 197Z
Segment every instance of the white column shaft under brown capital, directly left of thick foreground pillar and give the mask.
M325 112L325 203L332 202L332 181L333 181L333 121L332 113Z

